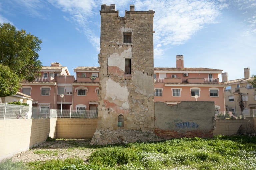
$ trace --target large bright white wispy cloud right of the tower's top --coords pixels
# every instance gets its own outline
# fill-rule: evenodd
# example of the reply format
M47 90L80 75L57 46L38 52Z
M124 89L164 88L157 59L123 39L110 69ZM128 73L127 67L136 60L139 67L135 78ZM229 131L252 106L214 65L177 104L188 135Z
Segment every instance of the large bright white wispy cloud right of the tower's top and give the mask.
M154 42L161 44L162 55L168 45L180 45L186 43L193 35L207 24L216 23L216 18L227 4L220 2L199 0L146 0L136 1L136 10L153 9L154 16ZM155 51L160 47L155 45Z

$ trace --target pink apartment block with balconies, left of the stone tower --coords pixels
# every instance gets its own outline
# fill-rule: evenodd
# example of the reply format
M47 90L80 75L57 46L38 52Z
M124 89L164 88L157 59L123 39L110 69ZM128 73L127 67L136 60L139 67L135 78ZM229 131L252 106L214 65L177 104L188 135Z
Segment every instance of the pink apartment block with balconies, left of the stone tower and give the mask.
M67 67L59 63L42 67L40 77L34 82L21 83L21 92L34 99L32 106L40 108L40 113L49 109L97 110L98 106L98 67L77 67L76 80L70 76ZM64 94L61 98L60 94Z

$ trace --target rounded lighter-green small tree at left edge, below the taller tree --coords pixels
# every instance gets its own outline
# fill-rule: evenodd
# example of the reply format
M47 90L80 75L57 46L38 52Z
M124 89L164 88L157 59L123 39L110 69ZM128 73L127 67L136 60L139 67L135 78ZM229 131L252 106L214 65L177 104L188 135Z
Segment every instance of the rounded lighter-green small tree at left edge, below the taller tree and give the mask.
M16 94L19 88L19 77L9 67L0 64L0 103L2 97Z

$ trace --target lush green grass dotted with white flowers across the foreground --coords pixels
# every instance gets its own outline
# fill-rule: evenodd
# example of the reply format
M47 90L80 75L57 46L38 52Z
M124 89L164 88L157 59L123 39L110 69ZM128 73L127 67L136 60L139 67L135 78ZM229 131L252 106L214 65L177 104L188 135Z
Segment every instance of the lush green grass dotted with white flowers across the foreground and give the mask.
M9 166L10 162L6 164ZM219 135L213 139L128 143L96 149L89 164L80 158L69 158L18 165L36 170L256 170L256 137Z

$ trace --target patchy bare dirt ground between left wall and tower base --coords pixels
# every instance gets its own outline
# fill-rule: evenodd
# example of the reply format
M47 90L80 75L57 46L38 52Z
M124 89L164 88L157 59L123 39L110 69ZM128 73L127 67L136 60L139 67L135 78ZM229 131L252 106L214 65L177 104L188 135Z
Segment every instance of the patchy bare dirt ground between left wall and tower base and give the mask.
M90 147L91 139L57 139L35 146L12 157L12 161L32 162L50 159L79 157L88 162L89 156L96 149Z

